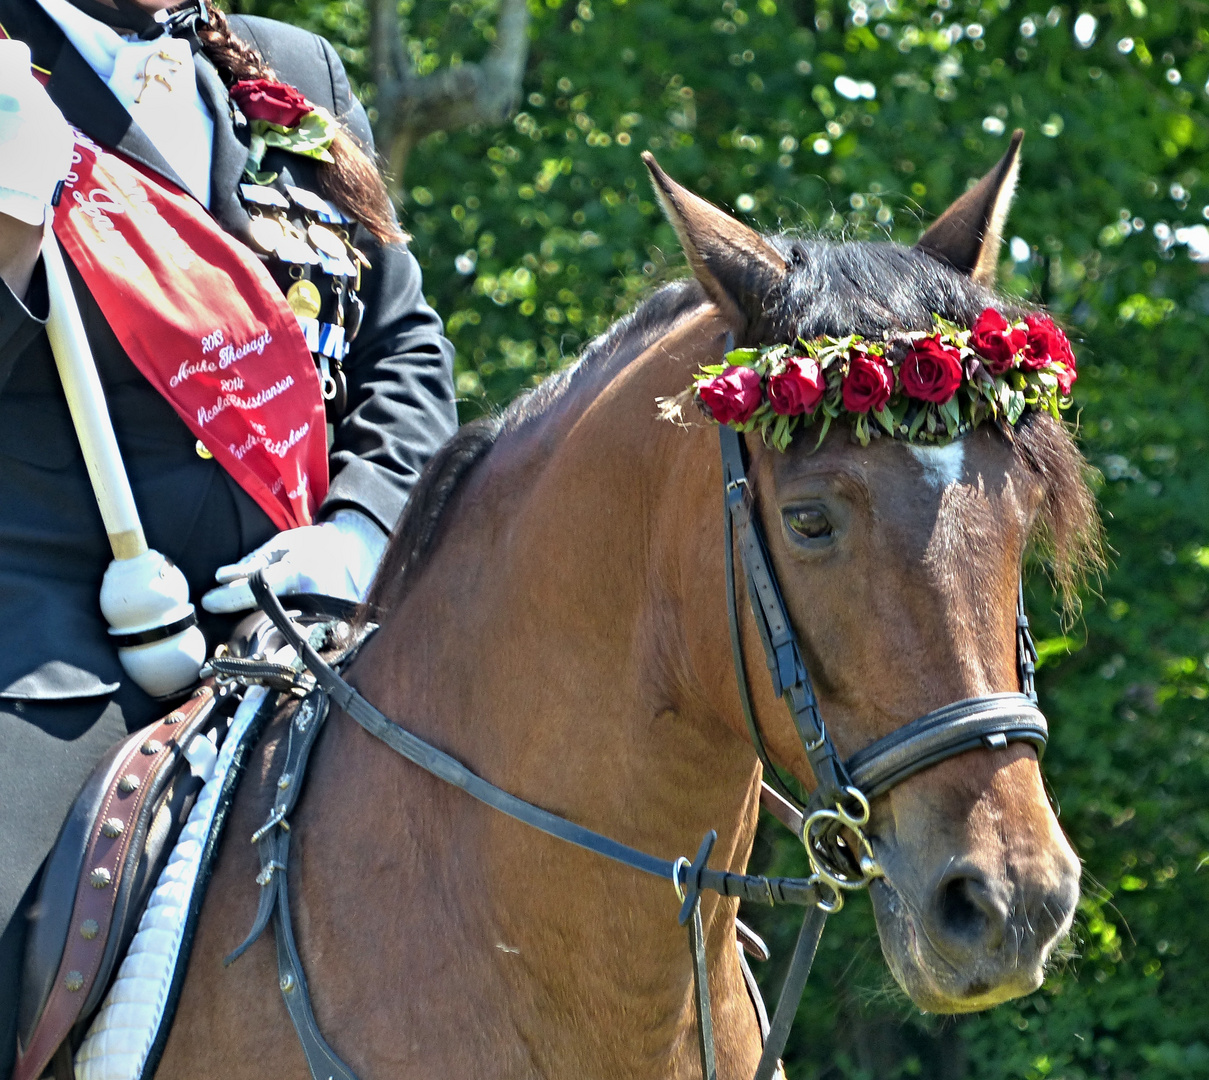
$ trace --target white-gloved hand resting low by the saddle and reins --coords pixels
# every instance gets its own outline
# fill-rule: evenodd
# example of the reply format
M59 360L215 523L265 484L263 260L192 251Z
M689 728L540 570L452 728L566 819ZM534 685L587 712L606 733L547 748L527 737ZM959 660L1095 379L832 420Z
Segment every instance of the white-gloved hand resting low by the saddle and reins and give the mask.
M324 593L364 600L386 541L386 533L364 514L337 510L330 521L288 529L245 559L220 566L214 574L219 588L202 597L202 607L215 614L255 607L248 578L258 570L278 596Z

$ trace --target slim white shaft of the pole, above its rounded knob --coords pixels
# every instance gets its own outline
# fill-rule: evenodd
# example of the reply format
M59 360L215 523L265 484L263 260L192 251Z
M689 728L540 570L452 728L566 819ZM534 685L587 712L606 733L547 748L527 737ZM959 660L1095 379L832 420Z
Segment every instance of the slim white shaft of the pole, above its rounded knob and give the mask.
M97 374L75 293L71 290L71 279L48 223L42 241L42 264L46 267L46 287L51 299L46 334L51 339L51 352L54 353L54 363L59 369L71 422L75 425L92 490L109 535L109 545L115 559L134 559L147 550L146 537L134 506L126 466L117 449L114 425L105 405L105 392Z

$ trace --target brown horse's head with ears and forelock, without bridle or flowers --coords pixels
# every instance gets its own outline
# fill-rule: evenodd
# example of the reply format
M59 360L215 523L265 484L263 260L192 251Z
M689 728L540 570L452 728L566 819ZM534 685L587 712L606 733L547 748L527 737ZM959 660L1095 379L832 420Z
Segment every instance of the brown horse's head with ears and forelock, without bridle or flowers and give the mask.
M1019 134L910 249L763 236L647 163L696 281L735 341L754 346L927 330L933 314L970 327L989 306L1020 313L993 291L1018 148ZM1019 691L1030 541L1048 544L1068 587L1094 551L1068 432L1034 412L941 446L861 445L843 423L816 441L799 431L781 452L746 435L770 556L843 756L950 703ZM744 646L759 657L750 619ZM786 710L762 672L752 683L773 761L812 787ZM883 951L916 1005L965 1012L1041 984L1075 912L1080 864L1031 746L977 749L916 773L874 801L867 834L884 872L872 883Z

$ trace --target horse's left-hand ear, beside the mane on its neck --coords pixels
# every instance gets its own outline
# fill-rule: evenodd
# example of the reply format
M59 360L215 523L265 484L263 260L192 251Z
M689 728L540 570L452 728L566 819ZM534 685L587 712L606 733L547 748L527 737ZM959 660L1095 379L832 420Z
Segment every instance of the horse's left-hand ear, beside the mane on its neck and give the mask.
M788 262L754 229L677 184L650 151L642 160L696 279L728 316L745 325L753 322Z

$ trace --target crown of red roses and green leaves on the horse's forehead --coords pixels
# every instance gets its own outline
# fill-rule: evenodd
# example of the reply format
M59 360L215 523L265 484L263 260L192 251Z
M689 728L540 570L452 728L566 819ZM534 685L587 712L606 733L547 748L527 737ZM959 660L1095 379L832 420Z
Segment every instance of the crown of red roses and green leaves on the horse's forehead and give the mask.
M1075 354L1053 319L1008 322L988 307L961 329L933 314L931 331L850 334L798 345L736 348L701 368L686 394L660 403L678 418L690 395L711 420L758 431L777 450L799 425L849 415L861 445L881 431L908 443L948 443L985 420L1014 425L1025 409L1070 406ZM872 423L870 423L872 418Z

